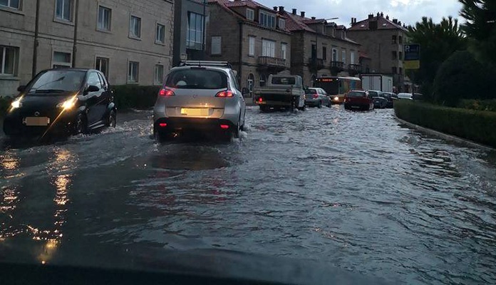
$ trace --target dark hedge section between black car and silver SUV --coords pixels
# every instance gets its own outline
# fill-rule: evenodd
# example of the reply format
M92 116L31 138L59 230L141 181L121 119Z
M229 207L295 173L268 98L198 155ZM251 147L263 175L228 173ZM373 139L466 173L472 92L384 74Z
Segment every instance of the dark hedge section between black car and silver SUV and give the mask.
M115 105L119 109L146 109L155 105L160 86L111 86L114 90Z

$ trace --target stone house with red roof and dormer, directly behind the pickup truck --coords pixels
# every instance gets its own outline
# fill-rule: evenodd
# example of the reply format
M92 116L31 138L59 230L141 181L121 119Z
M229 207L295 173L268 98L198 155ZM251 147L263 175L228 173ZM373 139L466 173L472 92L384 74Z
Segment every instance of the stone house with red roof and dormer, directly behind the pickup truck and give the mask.
M267 77L291 67L291 33L284 8L270 9L252 0L210 0L207 58L229 61L240 85L253 90Z

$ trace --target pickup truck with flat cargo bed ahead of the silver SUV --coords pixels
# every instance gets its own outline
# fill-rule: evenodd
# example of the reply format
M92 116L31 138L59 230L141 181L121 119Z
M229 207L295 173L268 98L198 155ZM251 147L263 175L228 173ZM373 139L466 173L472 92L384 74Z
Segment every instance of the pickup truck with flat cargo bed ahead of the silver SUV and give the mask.
M305 110L305 88L301 76L270 75L267 86L254 88L253 93L262 112L271 108Z

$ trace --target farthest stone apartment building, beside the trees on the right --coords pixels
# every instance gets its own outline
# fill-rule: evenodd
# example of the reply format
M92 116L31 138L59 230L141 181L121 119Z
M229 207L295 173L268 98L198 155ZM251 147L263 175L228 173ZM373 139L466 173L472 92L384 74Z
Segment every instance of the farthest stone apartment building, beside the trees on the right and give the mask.
M358 41L371 58L371 73L392 75L396 90L402 91L410 84L405 81L403 68L403 43L407 41L408 29L398 19L389 19L383 13L369 14L363 21L351 19L348 36Z

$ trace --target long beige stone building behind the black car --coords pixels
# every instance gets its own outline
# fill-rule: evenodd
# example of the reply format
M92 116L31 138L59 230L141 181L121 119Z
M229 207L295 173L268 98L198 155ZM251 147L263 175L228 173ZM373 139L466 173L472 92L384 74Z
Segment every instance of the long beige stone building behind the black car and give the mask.
M160 84L172 65L173 6L172 0L0 1L0 95L63 66L96 68L113 85Z

